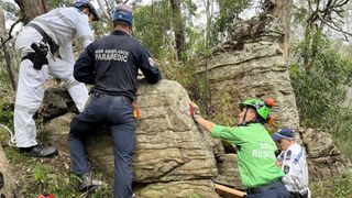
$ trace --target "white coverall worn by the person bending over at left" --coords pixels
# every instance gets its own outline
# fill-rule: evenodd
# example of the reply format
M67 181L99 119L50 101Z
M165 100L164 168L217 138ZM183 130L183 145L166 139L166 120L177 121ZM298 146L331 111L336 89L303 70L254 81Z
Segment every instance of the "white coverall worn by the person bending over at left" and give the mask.
M30 23L41 26L58 44L62 58L54 57L48 52L46 56L48 64L41 70L34 69L30 59L24 59L20 64L14 107L14 136L18 147L37 145L33 116L43 101L44 84L48 75L65 82L79 111L82 111L88 99L86 86L73 76L75 57L72 48L72 41L76 36L82 42L84 47L94 42L88 15L76 8L58 8L33 19ZM34 52L31 44L38 44L42 40L43 36L34 28L24 26L15 41L15 50L21 57L24 57Z

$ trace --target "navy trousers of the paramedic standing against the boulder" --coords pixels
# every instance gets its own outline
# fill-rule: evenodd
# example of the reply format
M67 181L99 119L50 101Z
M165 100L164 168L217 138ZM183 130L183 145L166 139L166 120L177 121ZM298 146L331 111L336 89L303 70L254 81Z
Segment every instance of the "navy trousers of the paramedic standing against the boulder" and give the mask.
M77 175L92 169L88 161L85 139L101 129L110 128L114 155L114 198L132 197L132 154L135 146L135 119L127 97L94 94L86 109L73 119L69 131L69 151L73 172Z

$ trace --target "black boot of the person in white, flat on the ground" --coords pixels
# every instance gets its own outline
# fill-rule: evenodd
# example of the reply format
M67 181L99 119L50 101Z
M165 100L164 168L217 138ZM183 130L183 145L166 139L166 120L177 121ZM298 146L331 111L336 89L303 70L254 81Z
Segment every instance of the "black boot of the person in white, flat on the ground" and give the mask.
M31 147L20 147L20 152L35 157L52 157L58 153L54 146L35 145Z

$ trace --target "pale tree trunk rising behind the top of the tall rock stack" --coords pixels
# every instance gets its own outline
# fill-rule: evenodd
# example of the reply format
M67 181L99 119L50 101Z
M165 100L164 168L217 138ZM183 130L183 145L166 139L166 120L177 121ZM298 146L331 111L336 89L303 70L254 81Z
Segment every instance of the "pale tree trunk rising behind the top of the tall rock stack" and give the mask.
M282 25L284 26L285 38L282 44L282 47L284 51L284 57L287 61L293 0L266 0L265 3L267 13L278 18Z

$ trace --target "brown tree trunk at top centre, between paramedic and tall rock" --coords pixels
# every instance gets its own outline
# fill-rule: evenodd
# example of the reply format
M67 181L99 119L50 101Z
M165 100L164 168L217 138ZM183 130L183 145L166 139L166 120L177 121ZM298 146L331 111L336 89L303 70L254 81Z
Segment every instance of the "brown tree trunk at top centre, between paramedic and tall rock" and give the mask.
M177 61L185 62L183 52L185 51L185 25L180 10L180 0L170 0L173 10L173 24L175 32L175 44L177 51Z

